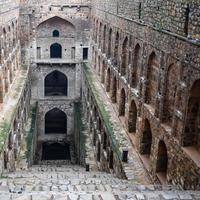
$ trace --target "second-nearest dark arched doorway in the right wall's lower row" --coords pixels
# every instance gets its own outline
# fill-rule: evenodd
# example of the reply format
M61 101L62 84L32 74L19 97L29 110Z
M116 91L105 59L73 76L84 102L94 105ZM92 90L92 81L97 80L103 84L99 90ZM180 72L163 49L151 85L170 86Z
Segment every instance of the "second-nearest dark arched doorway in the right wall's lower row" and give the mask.
M142 133L140 154L150 157L152 145L152 132L149 121L145 120L144 131Z

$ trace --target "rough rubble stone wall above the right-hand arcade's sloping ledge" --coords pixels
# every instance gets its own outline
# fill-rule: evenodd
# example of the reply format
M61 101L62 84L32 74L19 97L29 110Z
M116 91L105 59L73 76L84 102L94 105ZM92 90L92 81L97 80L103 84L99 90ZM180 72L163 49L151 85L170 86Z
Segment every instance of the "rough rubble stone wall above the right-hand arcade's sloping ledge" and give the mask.
M119 0L96 0L92 5L95 10L106 11L113 16L135 20L191 39L199 39L199 1L196 0L125 0L123 3Z

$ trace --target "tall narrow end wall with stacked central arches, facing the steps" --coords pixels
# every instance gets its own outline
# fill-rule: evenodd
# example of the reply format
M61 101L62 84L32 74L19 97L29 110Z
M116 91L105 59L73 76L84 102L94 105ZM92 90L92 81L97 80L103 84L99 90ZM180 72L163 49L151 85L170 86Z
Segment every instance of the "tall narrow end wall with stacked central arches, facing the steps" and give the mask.
M44 143L66 142L70 144L71 162L78 162L75 159L79 141L75 140L78 132L74 128L74 102L80 101L80 63L83 48L89 47L89 16L89 1L46 1L45 4L32 1L21 7L22 63L30 63L32 101L38 102L39 110L36 162L42 159ZM58 49L54 51L55 47L59 48L59 55L53 55L58 52ZM59 74L59 80L65 77L66 94L46 94L45 81L51 74ZM59 109L67 117L65 134L45 133L45 116L53 109Z

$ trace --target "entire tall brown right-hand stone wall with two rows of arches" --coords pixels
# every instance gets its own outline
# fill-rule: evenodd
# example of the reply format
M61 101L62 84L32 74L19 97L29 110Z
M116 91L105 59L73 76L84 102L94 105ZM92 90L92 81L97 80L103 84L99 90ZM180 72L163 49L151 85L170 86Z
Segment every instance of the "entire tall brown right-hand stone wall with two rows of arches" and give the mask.
M92 3L92 66L152 179L186 189L199 188L198 12L197 1Z

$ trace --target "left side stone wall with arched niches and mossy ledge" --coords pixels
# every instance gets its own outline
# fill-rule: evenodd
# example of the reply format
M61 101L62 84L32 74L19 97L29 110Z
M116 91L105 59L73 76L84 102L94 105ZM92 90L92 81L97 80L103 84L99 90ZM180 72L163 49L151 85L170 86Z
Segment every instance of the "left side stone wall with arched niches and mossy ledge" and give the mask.
M26 156L25 124L29 115L30 82L21 66L19 2L0 2L0 173L21 167Z

